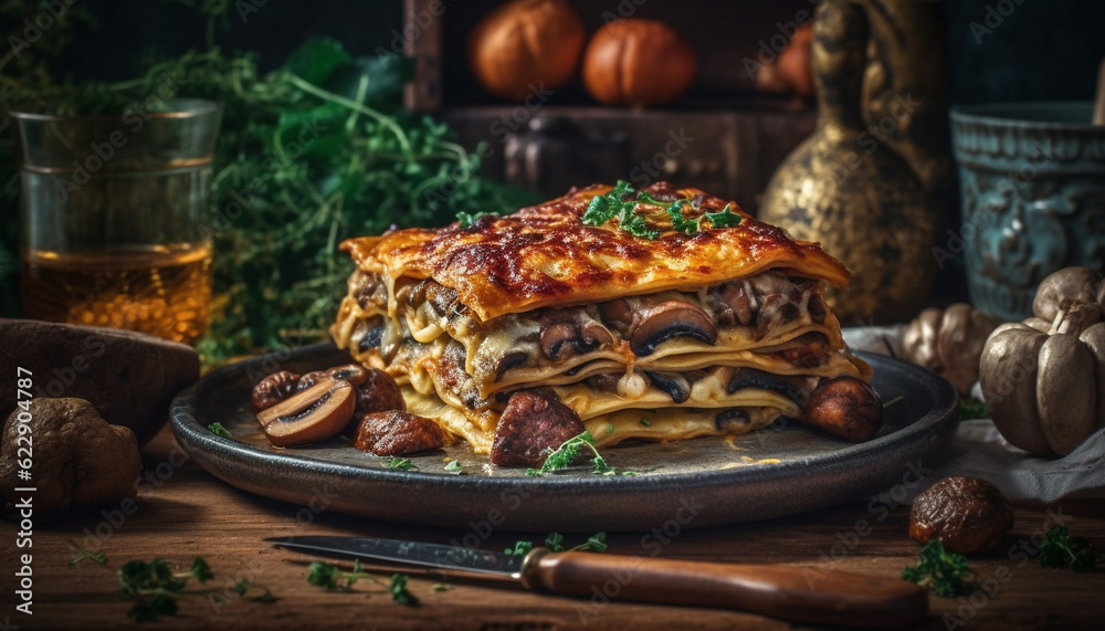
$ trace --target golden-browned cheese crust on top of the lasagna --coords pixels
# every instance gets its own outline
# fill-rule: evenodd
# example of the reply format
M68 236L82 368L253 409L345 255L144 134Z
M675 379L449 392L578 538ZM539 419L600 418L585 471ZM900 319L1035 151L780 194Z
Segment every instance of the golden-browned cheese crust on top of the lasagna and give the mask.
M470 228L453 223L399 230L350 239L341 248L359 269L391 283L400 275L434 278L455 290L460 303L484 322L539 307L704 287L772 267L848 285L848 270L817 243L796 241L735 202L698 189L660 189L655 194L694 200L687 204L695 208L688 219L719 212L728 203L741 215L740 224L687 235L672 230L666 212L656 208L648 218L649 228L661 232L656 240L610 223L585 225L581 218L591 198L610 190L591 186L508 217L483 217Z

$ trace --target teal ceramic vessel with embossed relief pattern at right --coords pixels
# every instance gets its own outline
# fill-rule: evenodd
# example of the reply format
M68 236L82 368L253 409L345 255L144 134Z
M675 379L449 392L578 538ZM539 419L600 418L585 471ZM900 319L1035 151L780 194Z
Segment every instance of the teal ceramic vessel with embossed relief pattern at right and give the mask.
M1105 270L1105 127L1090 102L951 111L960 230L934 250L959 253L971 302L1006 320L1032 315L1035 288L1072 265Z

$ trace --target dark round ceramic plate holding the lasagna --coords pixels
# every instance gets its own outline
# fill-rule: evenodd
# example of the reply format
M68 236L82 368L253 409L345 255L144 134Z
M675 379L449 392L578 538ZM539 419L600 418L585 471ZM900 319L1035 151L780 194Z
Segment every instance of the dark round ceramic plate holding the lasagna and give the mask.
M582 464L543 477L498 469L466 443L448 449L463 474L443 470L445 454L412 458L415 471L394 471L387 459L335 439L276 449L250 411L252 383L277 369L294 372L347 364L330 345L228 366L181 392L172 403L177 440L207 471L227 483L317 509L391 522L532 532L649 530L711 526L792 515L869 496L903 480L911 467L935 463L959 419L951 386L928 370L863 355L873 385L891 407L878 437L853 444L796 423L779 423L736 439L716 437L670 444L623 443L603 450L619 472L593 475ZM241 442L208 431L220 422ZM669 523L670 520L673 520Z

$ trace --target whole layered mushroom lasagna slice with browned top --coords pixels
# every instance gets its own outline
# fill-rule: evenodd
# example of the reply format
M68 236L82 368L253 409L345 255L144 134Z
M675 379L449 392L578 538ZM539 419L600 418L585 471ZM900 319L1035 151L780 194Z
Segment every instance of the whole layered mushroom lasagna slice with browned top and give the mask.
M801 418L822 378L870 378L821 297L849 273L818 244L697 189L618 192L346 241L332 336L477 453L519 391L602 446L744 433ZM597 222L597 197L631 210Z

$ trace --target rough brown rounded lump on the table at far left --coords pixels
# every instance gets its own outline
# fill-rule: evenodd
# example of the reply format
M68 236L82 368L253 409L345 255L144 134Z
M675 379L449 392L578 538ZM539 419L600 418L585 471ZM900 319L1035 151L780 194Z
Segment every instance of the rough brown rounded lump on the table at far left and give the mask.
M33 459L19 453L28 435L33 438ZM28 470L25 464L30 464L30 482L20 476L20 471ZM17 408L4 423L0 484L9 502L19 501L15 487L29 484L35 487L35 509L118 502L138 494L135 481L139 475L141 458L135 433L108 424L84 399L33 399L27 410Z

